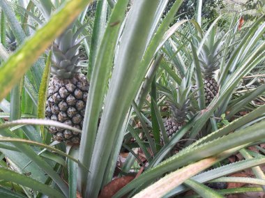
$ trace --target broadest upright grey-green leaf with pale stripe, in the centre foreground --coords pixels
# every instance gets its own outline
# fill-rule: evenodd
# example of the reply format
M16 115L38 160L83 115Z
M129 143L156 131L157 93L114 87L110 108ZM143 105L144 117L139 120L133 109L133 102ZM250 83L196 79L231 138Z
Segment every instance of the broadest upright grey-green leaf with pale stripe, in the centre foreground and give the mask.
M130 103L139 89L139 86L133 86L135 84L135 75L137 75L139 63L147 45L147 37L157 5L157 0L152 3L135 0L128 13L112 79L109 82L109 91L106 96L105 108L94 147L93 162L91 162L89 168L91 173L88 177L86 197L98 195L107 160L113 144L116 144L115 137L117 137L117 133L126 118ZM146 73L146 70L144 73ZM109 119L114 117L115 120ZM90 181L93 181L93 183Z

